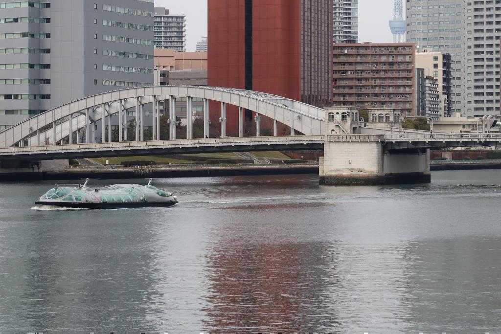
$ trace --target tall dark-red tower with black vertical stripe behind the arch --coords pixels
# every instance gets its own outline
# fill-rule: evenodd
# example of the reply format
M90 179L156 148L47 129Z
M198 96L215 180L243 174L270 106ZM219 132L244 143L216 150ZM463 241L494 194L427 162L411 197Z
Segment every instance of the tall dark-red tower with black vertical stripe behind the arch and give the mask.
M208 0L208 85L324 107L332 96L331 42L332 0ZM213 136L219 110L211 104ZM226 133L236 136L237 109L226 114ZM252 111L245 116L244 135L252 135ZM262 120L263 135L271 124Z

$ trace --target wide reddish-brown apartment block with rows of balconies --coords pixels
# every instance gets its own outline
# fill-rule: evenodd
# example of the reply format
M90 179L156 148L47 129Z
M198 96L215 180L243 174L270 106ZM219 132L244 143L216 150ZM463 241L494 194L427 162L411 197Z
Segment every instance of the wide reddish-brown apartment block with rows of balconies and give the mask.
M333 44L332 53L334 106L415 115L415 44Z

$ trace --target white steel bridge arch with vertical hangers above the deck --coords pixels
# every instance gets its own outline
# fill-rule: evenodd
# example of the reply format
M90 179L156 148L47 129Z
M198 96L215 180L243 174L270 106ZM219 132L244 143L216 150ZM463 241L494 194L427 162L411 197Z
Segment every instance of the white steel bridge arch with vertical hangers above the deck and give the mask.
M169 100L169 103L172 103L177 98L187 98L187 105L191 104L192 98L204 100L204 128L206 129L209 126L208 101L216 101L220 102L222 106L234 105L239 108L240 113L241 110L248 109L259 115L267 116L304 135L322 135L324 131L325 111L323 109L284 97L218 87L156 86L98 94L49 110L0 132L0 147L22 146L26 141L28 141L28 146L47 145L49 142L54 144L69 136L70 133L72 134L69 136L70 144L73 144L73 133L78 133L80 129L84 128L87 130L84 141L86 143L96 142L94 129L99 121L101 121L102 140L104 141L106 120L110 124L112 116L118 116L120 129L122 127L125 129L124 136L142 140L142 138L138 138L138 126L136 126L135 134L127 134L127 125L123 123L123 120L126 119L124 115L128 109L136 108L138 111L135 115L136 122L140 123L139 127L142 127L144 125L143 106L146 104L153 106L153 137L158 140L160 111L157 102ZM222 109L225 110L225 108ZM102 122L103 119L105 122ZM172 107L170 108L170 119L175 119L175 108ZM126 138L122 138L122 131L119 132L119 141L125 140ZM175 139L174 122L171 122L170 133L170 138ZM111 134L111 127L108 127L108 134ZM189 125L188 134L191 135ZM53 138L56 140L54 141ZM77 143L79 141L77 135Z

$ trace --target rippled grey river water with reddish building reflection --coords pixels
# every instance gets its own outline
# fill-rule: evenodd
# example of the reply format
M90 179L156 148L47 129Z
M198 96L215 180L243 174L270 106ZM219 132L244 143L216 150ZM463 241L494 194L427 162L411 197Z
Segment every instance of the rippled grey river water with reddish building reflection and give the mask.
M111 211L0 184L0 332L499 332L501 172L432 179L160 179L176 207Z

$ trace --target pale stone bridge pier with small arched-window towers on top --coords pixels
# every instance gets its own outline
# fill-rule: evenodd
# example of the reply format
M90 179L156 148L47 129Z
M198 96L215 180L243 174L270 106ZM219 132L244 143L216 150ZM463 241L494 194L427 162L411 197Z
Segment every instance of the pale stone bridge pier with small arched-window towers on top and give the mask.
M388 130L398 127L401 111L369 110L367 126L359 122L358 115L356 108L326 109L326 138L324 157L320 159L320 184L383 185L431 181L429 149L391 150L386 146L384 134L371 134L376 129L381 131L385 127ZM378 121L381 117L379 115L383 117L381 122Z

